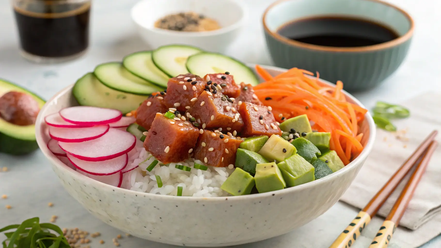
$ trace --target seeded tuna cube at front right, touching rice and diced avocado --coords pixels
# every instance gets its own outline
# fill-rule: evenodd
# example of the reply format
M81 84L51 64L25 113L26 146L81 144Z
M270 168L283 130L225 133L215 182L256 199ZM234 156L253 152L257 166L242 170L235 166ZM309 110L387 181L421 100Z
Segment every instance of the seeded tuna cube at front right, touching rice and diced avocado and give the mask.
M241 139L204 130L199 134L193 158L201 160L205 165L228 167L230 164L235 164L236 151L240 143L242 143Z

